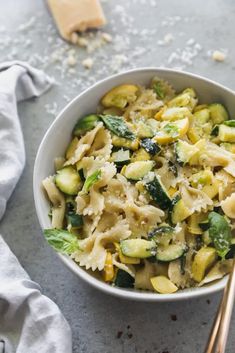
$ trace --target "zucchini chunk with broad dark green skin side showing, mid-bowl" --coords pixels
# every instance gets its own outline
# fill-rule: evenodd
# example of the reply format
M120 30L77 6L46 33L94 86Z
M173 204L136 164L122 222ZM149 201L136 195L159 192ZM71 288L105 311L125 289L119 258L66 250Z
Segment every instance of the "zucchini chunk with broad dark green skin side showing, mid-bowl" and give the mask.
M145 188L149 192L153 201L162 209L167 210L171 207L171 198L168 195L160 177L153 172L147 175L145 180Z

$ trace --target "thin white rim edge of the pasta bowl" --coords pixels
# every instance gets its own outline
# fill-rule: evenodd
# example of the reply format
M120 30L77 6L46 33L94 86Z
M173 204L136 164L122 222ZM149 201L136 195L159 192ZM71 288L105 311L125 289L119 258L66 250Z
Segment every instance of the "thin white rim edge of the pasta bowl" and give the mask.
M37 169L39 166L39 161L40 161L43 146L44 146L45 142L47 141L48 136L53 131L54 126L56 124L58 124L58 121L64 116L64 114L66 114L66 111L68 109L70 109L72 105L76 104L76 102L78 100L83 99L83 97L86 96L86 94L88 92L98 88L99 86L102 86L106 82L109 82L112 80L115 81L116 78L122 78L122 77L124 78L126 75L131 74L131 73L139 73L139 72L148 73L148 72L153 72L153 71L156 71L158 74L161 74L162 76L164 76L164 73L172 73L175 75L179 75L181 77L187 76L189 78L190 77L196 78L198 80L204 81L205 83L215 85L218 88L226 91L227 93L233 94L235 96L235 92L233 90L231 90L230 88L227 88L227 87L223 86L222 84L217 83L217 82L215 82L211 79L208 79L206 77L203 77L201 75L190 73L187 71L179 71L179 70L175 70L175 69L161 68L161 67L139 67L139 68L123 71L121 73L108 76L108 77L96 82L92 86L88 87L87 89L85 89L81 93L79 93L68 104L66 104L66 106L63 109L61 109L61 111L58 113L58 115L56 116L56 118L54 119L54 121L49 126L46 133L44 134L44 136L41 140L41 143L38 147L37 154L36 154L36 158L35 158L35 162L34 162L34 170L33 170L33 195L34 195L34 203L35 203L37 217L38 217L38 220L39 220L39 223L40 223L40 226L42 229L44 229L46 225L44 223L44 213L43 213L41 206L39 205L38 196L37 196L39 193L38 184L37 184L38 183ZM89 274L85 269L81 268L78 264L76 264L67 255L59 254L57 252L56 252L56 254L61 259L61 261L65 264L65 266L67 266L75 275L79 276L85 282L89 283L92 287L95 287L106 294L111 294L111 295L119 297L119 298L136 300L136 301L169 302L169 301L185 300L185 299L190 299L190 298L199 298L199 297L209 295L212 293L216 293L216 292L222 290L226 285L227 277L228 277L228 276L225 276L224 278L214 282L211 285L205 286L205 287L191 288L191 289L188 289L187 291L179 291L179 292L176 292L173 294L158 294L158 293L154 293L154 292L146 292L146 291L142 292L142 291L136 291L136 290L127 290L127 289L122 289L122 288L111 286L110 284L106 284L105 282L102 282L101 280L96 279L94 276Z

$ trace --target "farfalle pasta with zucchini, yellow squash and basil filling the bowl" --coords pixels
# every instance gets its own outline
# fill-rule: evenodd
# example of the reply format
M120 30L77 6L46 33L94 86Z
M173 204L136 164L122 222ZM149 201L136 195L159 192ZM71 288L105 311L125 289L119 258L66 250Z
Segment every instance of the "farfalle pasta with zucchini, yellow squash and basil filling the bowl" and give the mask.
M231 270L235 120L222 104L158 77L114 87L55 170L45 238L110 285L166 294Z

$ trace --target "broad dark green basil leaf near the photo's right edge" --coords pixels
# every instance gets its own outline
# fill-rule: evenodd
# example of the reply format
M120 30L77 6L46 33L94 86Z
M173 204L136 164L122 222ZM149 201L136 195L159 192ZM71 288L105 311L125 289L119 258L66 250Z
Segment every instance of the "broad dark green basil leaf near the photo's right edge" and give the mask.
M231 245L231 228L226 219L217 212L211 212L208 220L210 239L213 241L218 255L224 258Z

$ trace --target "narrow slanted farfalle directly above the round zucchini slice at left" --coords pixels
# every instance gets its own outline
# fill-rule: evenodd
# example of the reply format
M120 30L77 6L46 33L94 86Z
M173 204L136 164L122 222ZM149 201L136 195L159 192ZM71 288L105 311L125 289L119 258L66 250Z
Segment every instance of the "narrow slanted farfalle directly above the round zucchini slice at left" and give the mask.
M102 127L103 123L99 122L93 130L87 132L86 135L80 138L74 154L65 162L64 166L74 165L86 155L86 153L91 148L93 141L95 140L96 134Z

